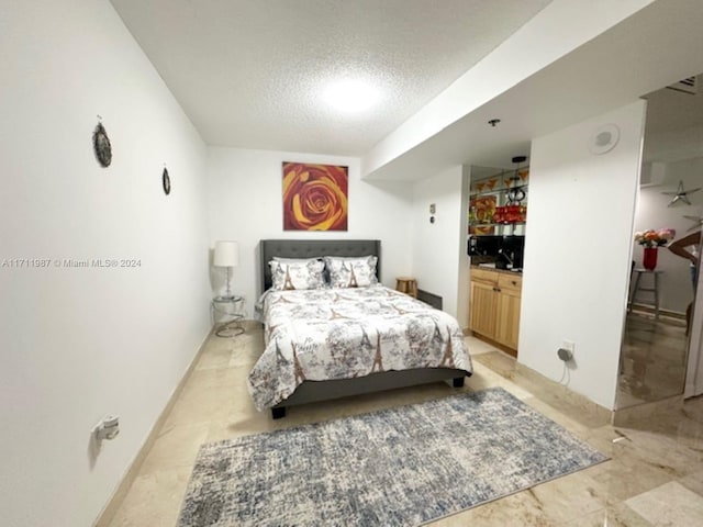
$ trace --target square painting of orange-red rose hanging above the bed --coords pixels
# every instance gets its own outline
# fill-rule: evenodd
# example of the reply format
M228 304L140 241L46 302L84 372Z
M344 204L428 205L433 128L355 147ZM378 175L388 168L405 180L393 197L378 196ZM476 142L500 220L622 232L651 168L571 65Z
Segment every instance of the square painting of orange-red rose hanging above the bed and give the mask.
M348 167L283 162L283 231L346 231Z

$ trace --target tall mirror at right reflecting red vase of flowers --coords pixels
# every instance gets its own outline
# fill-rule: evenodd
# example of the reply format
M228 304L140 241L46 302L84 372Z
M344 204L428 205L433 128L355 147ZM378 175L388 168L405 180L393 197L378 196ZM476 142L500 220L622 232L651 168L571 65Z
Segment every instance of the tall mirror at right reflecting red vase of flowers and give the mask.
M694 80L698 91L689 85L645 97L647 119L635 232L671 228L674 239L680 239L701 229L703 77ZM645 245L633 243L615 410L683 393L689 348L687 307L695 294L689 260L669 250L668 243L654 251L654 269L644 267ZM689 248L694 249L700 247ZM648 253L651 257L652 251Z

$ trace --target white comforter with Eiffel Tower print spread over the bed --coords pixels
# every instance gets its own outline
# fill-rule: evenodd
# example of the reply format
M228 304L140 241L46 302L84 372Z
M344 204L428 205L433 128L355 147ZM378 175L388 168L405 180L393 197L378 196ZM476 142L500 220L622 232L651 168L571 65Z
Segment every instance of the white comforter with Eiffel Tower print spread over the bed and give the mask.
M258 410L284 401L305 380L414 368L472 372L451 315L383 285L268 291L263 304L266 349L248 378Z

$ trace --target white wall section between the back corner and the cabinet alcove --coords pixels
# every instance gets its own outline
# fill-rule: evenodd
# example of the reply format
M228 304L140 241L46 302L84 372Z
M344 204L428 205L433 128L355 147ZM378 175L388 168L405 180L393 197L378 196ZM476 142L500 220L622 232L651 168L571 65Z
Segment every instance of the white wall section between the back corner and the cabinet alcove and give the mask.
M417 287L443 298L443 310L468 327L466 251L468 173L457 166L414 184L413 276ZM434 203L435 223L429 223ZM464 282L464 283L462 283Z

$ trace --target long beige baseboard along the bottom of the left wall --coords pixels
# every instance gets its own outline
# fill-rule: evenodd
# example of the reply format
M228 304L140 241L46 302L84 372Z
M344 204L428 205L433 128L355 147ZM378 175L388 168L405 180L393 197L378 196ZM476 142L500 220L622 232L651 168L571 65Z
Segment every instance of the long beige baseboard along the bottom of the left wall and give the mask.
M149 450L156 442L156 439L158 438L158 431L161 429L161 427L166 423L166 418L168 417L170 411L172 410L174 404L176 404L176 400L183 391L186 381L188 380L193 369L196 368L196 363L198 362L198 359L200 358L203 349L205 348L205 344L208 343L213 332L215 330L215 327L216 325L210 329L210 333L208 333L203 341L200 344L200 347L198 348L198 352L196 354L193 359L190 361L190 365L188 366L188 368L186 369L186 372L183 373L180 381L178 382L178 385L171 393L171 396L168 399L166 406L164 406L164 410L161 411L158 418L152 426L152 429L149 430L148 435L146 436L146 439L144 440L144 444L142 445L136 456L134 457L134 460L130 464L130 468L127 469L124 476L120 481L120 484L118 485L114 493L110 497L110 501L108 502L108 504L104 506L104 508L102 509L102 512L100 513L96 522L93 523L93 527L108 527L110 523L114 519L114 516L118 509L120 508L120 506L122 505L122 502L124 501L125 496L127 495L127 492L132 486L132 483L134 483L134 480L140 473L142 463L144 462Z

